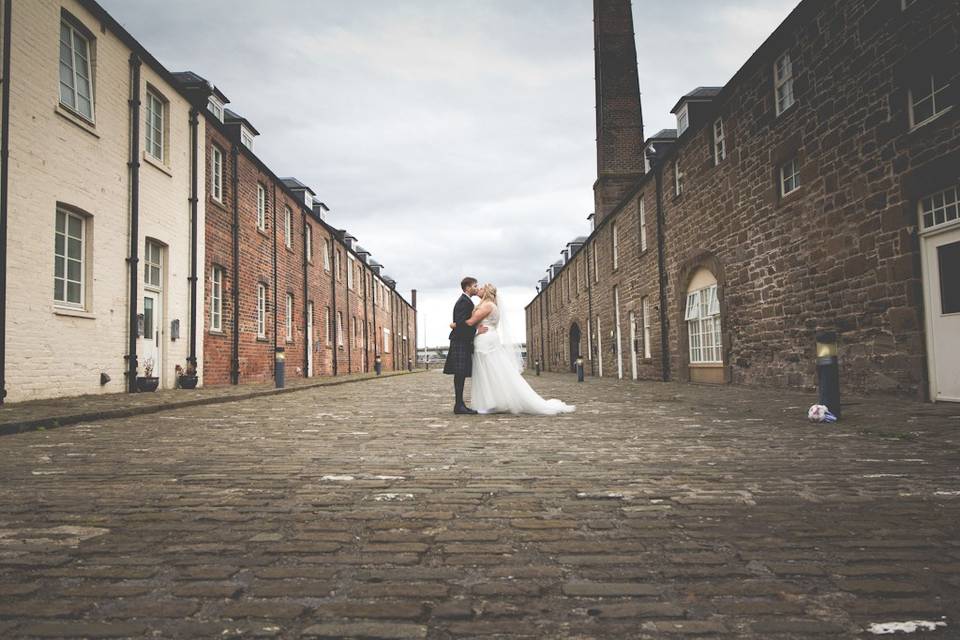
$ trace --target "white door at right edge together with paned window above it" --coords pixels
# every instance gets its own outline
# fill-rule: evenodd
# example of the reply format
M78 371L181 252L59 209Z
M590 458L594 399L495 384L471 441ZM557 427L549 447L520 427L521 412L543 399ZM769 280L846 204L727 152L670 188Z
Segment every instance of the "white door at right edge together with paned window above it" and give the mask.
M920 201L930 399L960 402L960 189Z

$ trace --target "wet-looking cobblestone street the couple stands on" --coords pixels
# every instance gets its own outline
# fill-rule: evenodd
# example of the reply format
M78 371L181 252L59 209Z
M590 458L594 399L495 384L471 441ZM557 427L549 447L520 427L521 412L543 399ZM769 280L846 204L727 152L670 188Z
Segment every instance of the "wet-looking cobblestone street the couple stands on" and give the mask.
M577 413L431 372L4 437L0 636L960 637L960 407L531 380Z

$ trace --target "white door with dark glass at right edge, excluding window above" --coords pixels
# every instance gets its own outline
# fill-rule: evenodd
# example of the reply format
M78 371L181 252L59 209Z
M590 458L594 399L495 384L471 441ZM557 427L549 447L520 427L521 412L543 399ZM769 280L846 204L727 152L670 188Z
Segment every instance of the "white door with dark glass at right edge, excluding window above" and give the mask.
M960 402L960 225L923 239L930 398Z

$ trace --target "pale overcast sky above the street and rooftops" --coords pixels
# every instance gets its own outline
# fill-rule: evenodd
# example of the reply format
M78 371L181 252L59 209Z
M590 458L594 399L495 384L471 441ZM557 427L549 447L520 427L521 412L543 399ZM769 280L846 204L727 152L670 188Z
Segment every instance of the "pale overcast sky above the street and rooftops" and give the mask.
M256 153L310 185L446 341L459 281L492 281L515 338L546 267L589 231L589 0L100 0L171 71L213 82ZM795 0L634 0L644 128L725 84Z

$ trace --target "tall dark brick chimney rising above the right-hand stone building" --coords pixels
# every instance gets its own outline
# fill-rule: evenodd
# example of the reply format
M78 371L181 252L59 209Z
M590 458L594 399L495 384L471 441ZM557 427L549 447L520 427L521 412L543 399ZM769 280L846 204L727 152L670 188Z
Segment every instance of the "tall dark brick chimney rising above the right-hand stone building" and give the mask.
M643 175L643 115L630 0L593 0L597 87L596 224Z

